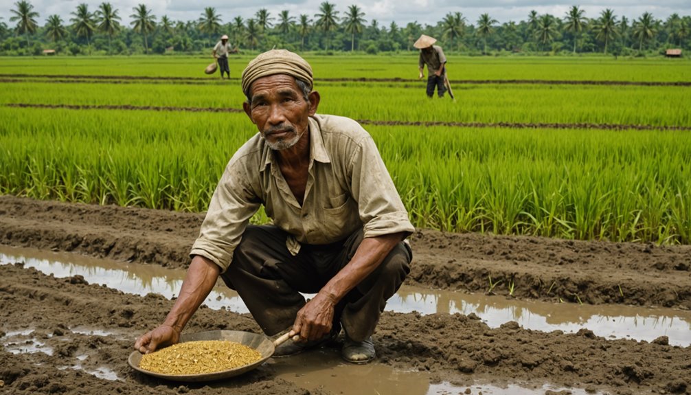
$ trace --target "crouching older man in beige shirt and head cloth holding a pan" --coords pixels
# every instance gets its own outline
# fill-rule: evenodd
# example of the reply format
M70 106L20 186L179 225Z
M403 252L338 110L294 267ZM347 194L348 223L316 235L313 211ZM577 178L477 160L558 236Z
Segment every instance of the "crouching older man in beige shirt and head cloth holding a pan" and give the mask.
M265 334L290 331L274 356L336 338L343 358L375 358L372 334L409 271L415 229L372 137L357 122L318 115L310 64L269 50L242 75L245 113L259 133L231 158L194 242L180 296L135 343L176 343L220 276ZM272 224L248 224L263 205ZM301 293L315 293L307 302Z

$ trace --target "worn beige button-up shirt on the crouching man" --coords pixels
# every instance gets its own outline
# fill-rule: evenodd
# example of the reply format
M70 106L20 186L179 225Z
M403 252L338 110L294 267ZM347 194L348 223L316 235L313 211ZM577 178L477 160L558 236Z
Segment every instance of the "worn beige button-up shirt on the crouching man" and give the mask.
M233 155L216 186L191 256L225 271L249 218L261 204L274 225L289 233L287 249L328 244L358 229L371 238L415 231L372 137L352 119L309 120L310 165L303 204L297 202L259 133Z

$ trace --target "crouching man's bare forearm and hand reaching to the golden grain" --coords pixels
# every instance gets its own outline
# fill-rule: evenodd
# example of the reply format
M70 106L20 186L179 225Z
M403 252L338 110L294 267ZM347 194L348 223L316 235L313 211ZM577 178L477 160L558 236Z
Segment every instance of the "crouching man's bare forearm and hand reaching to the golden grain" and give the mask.
M138 338L134 348L148 354L159 347L178 343L182 328L214 289L219 273L220 268L211 260L202 256L192 258L180 295L163 324Z

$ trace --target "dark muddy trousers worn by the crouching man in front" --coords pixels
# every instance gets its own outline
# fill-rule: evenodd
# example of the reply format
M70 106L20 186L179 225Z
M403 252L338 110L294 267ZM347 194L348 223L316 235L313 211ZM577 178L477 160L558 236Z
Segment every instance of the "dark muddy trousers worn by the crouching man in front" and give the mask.
M249 225L221 275L238 291L254 320L272 336L290 328L305 305L302 293L317 293L354 256L363 239L358 231L325 246L303 244L296 256L285 247L287 233L272 225ZM334 325L352 340L371 336L386 300L396 293L408 272L413 253L400 242L368 277L336 306Z

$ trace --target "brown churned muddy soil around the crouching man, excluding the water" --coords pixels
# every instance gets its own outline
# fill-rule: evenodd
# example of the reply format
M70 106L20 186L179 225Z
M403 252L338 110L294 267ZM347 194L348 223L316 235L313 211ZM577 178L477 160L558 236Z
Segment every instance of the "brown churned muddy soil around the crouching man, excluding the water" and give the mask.
M0 244L72 251L123 262L184 267L200 214L0 197ZM406 283L484 293L489 278L515 285L513 298L551 302L691 309L691 247L577 242L530 237L451 234L421 229L410 238L413 268ZM509 297L509 289L492 289ZM21 264L0 266L0 338L35 329L25 347L0 351L2 394L330 394L276 378L263 365L211 386L143 376L126 365L133 340L158 325L172 301L133 296L83 278L55 278ZM99 328L104 335L75 327ZM258 332L251 317L200 309L187 331ZM691 347L607 340L522 329L491 329L471 314L386 312L374 337L377 363L428 372L432 382L469 385L552 383L609 394L691 394ZM338 347L338 344L330 345ZM78 366L79 369L74 367ZM120 380L86 372L102 367ZM474 392L473 392L474 393Z

